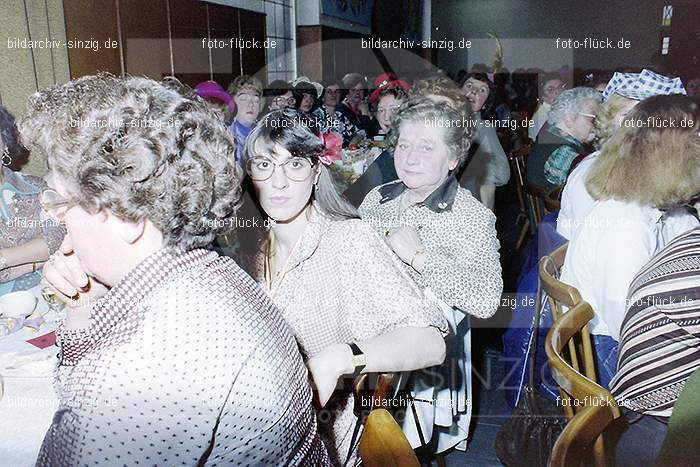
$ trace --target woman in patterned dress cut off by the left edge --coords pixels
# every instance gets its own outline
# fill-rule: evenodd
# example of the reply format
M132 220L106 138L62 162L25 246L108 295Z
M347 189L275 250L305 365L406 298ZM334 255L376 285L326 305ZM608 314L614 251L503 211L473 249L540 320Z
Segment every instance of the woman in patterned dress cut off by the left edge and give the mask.
M41 210L39 193L45 182L10 169L26 154L18 136L14 117L0 106L0 295L37 285L37 269L65 234Z

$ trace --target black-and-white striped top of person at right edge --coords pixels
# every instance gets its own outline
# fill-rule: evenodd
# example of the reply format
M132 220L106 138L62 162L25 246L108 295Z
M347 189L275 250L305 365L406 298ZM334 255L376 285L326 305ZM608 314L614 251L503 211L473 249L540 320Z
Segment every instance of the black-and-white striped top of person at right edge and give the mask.
M700 367L700 228L639 271L628 303L612 393L623 407L668 418Z

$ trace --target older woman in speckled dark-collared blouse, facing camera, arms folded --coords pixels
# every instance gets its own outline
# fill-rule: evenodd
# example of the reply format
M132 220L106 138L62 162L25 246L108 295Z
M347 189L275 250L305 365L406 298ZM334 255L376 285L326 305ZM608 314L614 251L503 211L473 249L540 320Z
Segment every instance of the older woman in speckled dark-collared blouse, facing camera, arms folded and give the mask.
M446 371L460 368L461 378L448 376L448 381L462 384L443 391L452 394L446 397L457 396L447 418L436 418L440 427L437 435L433 433L438 438L436 452L455 445L466 449L471 353L464 314L492 316L503 289L496 218L452 175L466 157L473 130L469 114L455 104L445 95L435 95L401 105L387 140L399 180L370 191L359 209L362 219L384 236L404 270L452 317L455 335L448 341L448 358L453 363Z

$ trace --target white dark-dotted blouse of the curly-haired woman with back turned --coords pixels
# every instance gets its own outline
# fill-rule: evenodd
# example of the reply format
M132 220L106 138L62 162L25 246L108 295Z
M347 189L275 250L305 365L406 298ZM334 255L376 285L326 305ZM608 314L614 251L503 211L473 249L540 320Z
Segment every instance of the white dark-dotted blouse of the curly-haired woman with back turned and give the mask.
M160 250L59 328L54 465L330 465L296 343L230 258ZM82 337L82 339L81 339Z

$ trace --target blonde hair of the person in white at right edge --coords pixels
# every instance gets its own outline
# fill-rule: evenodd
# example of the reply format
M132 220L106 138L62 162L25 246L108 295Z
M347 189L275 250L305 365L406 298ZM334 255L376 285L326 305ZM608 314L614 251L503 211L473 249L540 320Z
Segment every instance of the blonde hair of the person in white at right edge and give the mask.
M674 127L665 127L673 122ZM637 105L601 150L586 182L597 200L656 208L687 203L700 187L700 100L653 96Z

